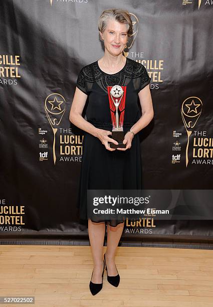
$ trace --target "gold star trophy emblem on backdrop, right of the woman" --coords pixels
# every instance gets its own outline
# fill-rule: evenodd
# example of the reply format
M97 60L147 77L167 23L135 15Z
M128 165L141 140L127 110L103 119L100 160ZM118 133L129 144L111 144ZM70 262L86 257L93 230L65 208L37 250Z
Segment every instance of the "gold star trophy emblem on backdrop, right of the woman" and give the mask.
M185 165L188 165L188 144L189 136L192 133L192 128L194 128L197 119L199 118L202 111L202 101L198 97L188 97L186 98L181 107L181 116L187 132L187 145L185 149Z

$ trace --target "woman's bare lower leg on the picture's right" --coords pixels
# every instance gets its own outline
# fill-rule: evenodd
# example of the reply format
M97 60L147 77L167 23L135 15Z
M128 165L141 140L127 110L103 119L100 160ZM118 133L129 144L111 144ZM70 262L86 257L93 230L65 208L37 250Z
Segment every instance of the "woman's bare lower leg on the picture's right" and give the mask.
M107 273L109 276L118 274L115 266L115 252L123 232L124 222L116 227L107 225L107 251L105 254Z

